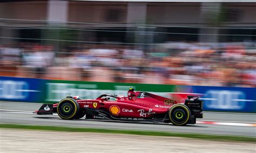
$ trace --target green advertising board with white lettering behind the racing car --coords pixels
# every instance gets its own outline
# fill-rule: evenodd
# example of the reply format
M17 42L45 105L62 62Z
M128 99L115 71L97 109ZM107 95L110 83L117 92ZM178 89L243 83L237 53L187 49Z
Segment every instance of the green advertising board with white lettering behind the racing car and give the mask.
M45 101L57 102L69 95L79 95L83 99L95 99L100 94L110 93L127 95L130 87L136 91L147 91L168 96L167 92L173 92L174 85L149 85L149 84L126 84L113 82L86 82L86 81L60 81L45 80Z

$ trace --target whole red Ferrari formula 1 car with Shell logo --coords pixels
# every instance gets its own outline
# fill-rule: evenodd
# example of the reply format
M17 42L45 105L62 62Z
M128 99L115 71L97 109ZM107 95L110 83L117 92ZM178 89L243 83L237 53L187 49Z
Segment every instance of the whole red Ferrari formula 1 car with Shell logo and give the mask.
M43 104L35 113L57 113L65 120L101 119L119 121L151 121L173 123L177 126L195 124L203 118L203 101L198 96L187 96L185 103L147 92L128 91L128 96L103 94L95 100L67 96L55 104Z

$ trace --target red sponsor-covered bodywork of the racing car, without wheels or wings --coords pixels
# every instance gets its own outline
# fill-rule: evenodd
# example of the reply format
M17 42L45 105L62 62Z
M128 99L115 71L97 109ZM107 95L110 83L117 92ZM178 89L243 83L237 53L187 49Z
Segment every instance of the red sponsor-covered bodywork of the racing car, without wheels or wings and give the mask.
M108 100L111 95L101 95L95 100L79 100L77 96L73 99L79 104L80 108L93 108L109 112L113 117L131 117L131 118L151 118L158 114L167 114L177 101L164 98L146 92L128 91L128 96L118 95L115 100ZM53 105L57 108L58 103Z

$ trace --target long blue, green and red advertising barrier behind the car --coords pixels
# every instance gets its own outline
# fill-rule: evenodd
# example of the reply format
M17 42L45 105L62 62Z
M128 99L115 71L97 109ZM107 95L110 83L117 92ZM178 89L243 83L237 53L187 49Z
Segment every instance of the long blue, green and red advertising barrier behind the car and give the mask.
M0 77L0 100L26 102L58 102L67 95L95 99L103 93L126 95L127 89L156 93L184 102L187 95L199 95L205 111L256 113L256 88L176 86L86 82Z

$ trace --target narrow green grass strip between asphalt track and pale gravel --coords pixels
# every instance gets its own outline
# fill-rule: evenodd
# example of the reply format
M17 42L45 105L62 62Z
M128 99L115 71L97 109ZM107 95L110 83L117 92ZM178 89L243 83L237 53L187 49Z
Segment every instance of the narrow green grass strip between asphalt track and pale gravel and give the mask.
M0 128L69 131L69 132L82 132L82 133L133 134L133 135L145 135L145 136L172 136L172 137L200 138L200 139L212 140L212 141L240 141L240 142L254 142L254 143L256 142L256 137L169 133L165 131L114 130L114 129L97 129L97 128L37 126L37 125L24 125L24 124L0 124Z

